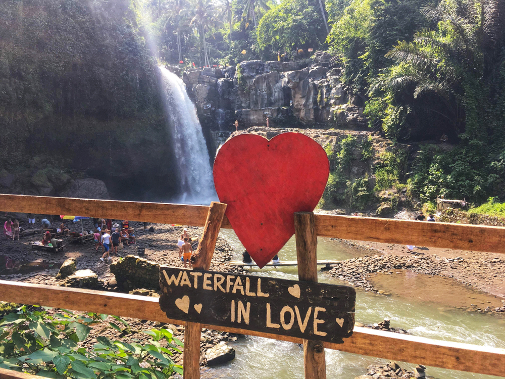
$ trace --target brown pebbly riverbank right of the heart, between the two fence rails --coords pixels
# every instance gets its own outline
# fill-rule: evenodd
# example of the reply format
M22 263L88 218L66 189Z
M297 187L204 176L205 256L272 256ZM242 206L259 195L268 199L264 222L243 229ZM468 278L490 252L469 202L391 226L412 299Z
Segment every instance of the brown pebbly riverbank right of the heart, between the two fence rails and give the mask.
M466 299L448 302L450 306L472 312L505 315L505 259L500 254L476 255L468 251L425 247L418 247L410 253L403 245L333 240L373 253L340 261L329 271L330 275L356 288L387 296L390 293L380 288L381 283L385 283L382 287L386 289L402 291L401 283L395 286L394 280L387 278L387 275L403 278L411 272L419 274L418 279L426 282L430 277L450 278L464 285L461 287L462 294L465 287L476 290L475 295ZM414 280L412 275L411 279ZM433 287L436 295L436 284ZM475 301L476 297L480 301Z

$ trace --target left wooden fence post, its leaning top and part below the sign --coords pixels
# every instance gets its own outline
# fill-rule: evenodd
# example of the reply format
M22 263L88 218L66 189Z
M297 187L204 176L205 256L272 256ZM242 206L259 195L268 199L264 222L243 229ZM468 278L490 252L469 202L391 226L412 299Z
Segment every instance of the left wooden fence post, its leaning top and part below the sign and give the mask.
M204 233L198 243L196 253L191 257L193 270L208 270L211 266L216 241L223 222L226 204L212 202L207 213ZM186 322L184 327L184 379L200 377L200 337L201 324Z

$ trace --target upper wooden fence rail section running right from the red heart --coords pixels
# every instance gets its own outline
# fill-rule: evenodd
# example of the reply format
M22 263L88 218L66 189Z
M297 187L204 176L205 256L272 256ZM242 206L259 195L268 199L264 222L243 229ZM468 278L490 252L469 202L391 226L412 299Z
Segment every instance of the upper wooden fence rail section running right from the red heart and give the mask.
M334 215L315 215L315 221L323 237L505 253L505 228L499 226Z

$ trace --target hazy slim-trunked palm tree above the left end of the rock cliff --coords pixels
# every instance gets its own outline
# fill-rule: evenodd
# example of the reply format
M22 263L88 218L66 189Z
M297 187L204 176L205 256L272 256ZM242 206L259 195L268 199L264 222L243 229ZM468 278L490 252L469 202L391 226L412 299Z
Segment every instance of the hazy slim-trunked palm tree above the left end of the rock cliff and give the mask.
M214 3L211 0L189 0L187 8L183 9L181 14L186 20L190 20L189 26L203 39L205 66L210 66L205 34L220 23L216 17Z

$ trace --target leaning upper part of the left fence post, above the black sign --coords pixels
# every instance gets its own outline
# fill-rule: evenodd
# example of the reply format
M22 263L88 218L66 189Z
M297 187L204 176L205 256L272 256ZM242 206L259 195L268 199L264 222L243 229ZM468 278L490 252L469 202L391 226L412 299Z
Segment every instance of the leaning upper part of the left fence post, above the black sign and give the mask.
M205 221L204 232L198 242L198 248L191 257L191 263L195 270L208 270L211 267L216 241L223 222L226 204L212 202Z

